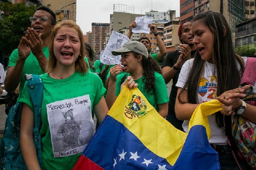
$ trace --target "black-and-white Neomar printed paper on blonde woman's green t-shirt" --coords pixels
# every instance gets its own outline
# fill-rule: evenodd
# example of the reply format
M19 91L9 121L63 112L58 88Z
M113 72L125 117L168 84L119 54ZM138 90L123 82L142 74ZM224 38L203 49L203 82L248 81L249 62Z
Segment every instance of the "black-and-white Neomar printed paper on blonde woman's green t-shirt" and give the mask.
M89 95L46 105L54 158L84 151L93 135Z

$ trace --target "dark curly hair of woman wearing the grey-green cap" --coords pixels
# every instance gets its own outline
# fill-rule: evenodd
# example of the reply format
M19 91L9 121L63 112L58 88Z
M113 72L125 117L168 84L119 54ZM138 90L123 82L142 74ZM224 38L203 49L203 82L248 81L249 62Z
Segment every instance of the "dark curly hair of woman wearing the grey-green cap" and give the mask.
M138 57L138 53L134 52L134 57L137 58ZM158 64L156 63L156 60L150 56L145 57L144 55L142 55L142 67L143 67L143 75L145 76L145 79L143 80L145 83L145 89L146 92L148 94L150 94L150 91L153 89L153 93L155 93L155 73L154 71L156 71L157 73L161 73L161 69L158 66Z

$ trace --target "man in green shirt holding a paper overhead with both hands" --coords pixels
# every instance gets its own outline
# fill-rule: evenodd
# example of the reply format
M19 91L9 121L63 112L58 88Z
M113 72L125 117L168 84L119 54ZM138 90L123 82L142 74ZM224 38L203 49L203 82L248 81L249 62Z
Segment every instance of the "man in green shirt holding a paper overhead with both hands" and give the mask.
M128 34L126 35L128 38L131 38L132 36L132 28L135 28L137 25L136 25L136 22L132 22L130 25L129 25L129 32ZM156 28L156 25L154 24L148 24L148 27L150 27L150 31L154 34L154 36L156 37L156 42L158 44L158 47L159 47L159 52L158 53L155 53L155 54L152 54L151 57L153 57L156 62L158 63L158 65L160 65L163 61L164 61L164 57L166 55L166 47L164 45L164 42L163 40L161 39L161 37L159 36L159 33L157 32L157 28ZM150 54L150 51L151 51L151 43L150 43L150 40L147 38L147 37L141 37L139 39L139 42L143 43L145 45L145 47L147 48L148 50L148 53Z

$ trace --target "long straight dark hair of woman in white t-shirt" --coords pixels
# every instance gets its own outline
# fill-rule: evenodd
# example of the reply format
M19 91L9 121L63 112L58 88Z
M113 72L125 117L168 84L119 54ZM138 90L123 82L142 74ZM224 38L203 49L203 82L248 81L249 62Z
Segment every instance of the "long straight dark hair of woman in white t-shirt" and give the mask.
M222 14L212 11L202 12L193 19L192 25L193 22L197 20L202 20L214 37L212 61L215 64L215 75L217 71L217 96L219 96L223 92L235 89L239 86L240 76L244 72L244 62L242 58L234 52L232 33ZM240 70L238 69L237 62L240 66ZM198 51L196 51L188 79L178 96L179 102L184 103L181 101L181 95L187 89L188 102L197 103L198 84L200 76L204 71L204 63L205 61L202 60ZM220 112L216 113L216 122L218 127L224 125L223 115Z

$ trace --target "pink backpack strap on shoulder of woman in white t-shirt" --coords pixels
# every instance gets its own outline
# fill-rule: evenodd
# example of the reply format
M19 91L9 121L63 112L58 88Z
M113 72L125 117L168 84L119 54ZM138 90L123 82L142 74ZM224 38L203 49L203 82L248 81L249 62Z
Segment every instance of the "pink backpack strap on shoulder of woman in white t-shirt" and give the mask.
M248 57L240 84L248 83L254 86L256 80L256 58Z

